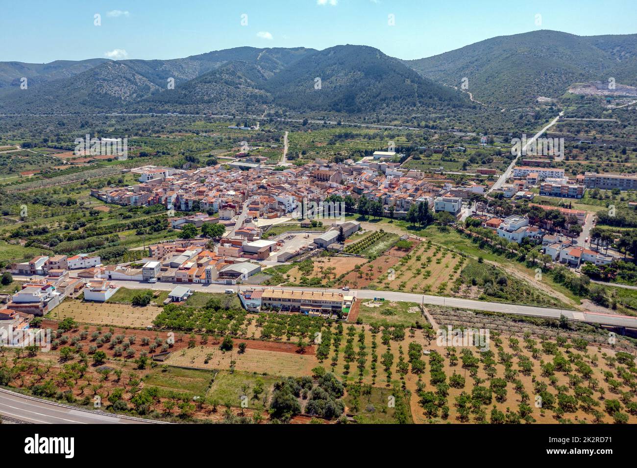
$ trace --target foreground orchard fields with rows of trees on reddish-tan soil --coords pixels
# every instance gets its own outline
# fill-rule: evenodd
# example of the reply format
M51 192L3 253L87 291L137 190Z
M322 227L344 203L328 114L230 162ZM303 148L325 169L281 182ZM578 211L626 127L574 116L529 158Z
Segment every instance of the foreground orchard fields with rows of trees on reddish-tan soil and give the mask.
M263 400L254 398L254 390L269 392L274 376L332 371L347 384L345 402L361 422L637 422L635 348L624 337L610 345L604 330L588 325L436 307L426 309L430 323L409 308L387 313L391 307L383 304L369 313L361 307L364 323L348 325L302 315L246 314L222 308L216 298L200 309L171 304L155 326L174 330L174 341L164 330L45 320L43 327L57 329L52 351L4 359L3 366L17 367L11 386L69 402L101 394L110 404L122 401L118 409L142 415L214 419L212 408L225 404L222 397L238 413L243 395L251 399L250 408L259 409ZM447 324L489 328L489 350L439 345L434 329ZM228 343L222 337L232 338ZM148 369L147 356L158 351L171 355L161 369ZM96 379L105 362L114 375ZM210 372L202 374L205 369ZM213 383L218 372L222 379ZM152 409L134 397L141 379L144 388L157 388L147 395ZM388 416L378 405L389 392L397 406ZM193 394L203 396L201 410L185 405ZM541 408L534 406L536 395Z

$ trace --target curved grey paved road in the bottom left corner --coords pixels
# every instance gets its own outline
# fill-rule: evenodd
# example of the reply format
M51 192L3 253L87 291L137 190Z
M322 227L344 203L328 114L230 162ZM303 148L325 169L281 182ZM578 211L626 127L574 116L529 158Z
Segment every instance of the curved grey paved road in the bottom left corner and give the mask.
M140 418L121 418L90 410L59 406L0 389L0 415L34 424L150 424Z

